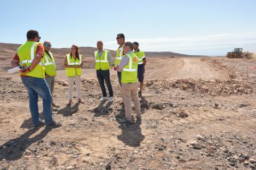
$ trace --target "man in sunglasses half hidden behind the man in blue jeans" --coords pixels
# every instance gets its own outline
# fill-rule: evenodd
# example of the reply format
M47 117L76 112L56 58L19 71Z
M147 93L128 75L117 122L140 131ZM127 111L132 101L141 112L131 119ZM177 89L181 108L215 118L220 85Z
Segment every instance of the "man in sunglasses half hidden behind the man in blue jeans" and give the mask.
M54 82L55 82L55 75L57 73L56 66L54 63L54 57L51 50L51 43L50 41L44 41L44 67L45 67L45 80L49 86L51 91L51 95L54 90ZM52 107L60 107L53 103L53 95L52 95Z

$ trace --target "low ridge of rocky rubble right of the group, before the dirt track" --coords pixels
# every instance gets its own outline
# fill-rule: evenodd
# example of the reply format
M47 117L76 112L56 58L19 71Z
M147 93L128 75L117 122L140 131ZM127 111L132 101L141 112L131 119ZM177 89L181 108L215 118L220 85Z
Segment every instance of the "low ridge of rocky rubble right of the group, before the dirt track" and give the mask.
M150 80L146 82L146 86L156 91L164 91L170 88L178 88L185 91L205 94L210 96L230 96L250 94L254 92L250 83L234 79L215 79L211 81L194 80L194 79L178 79L176 81L169 80Z

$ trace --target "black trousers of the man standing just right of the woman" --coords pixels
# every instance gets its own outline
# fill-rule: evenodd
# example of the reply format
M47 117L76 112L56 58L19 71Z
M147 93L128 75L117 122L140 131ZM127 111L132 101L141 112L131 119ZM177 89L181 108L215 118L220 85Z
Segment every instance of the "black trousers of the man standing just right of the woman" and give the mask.
M107 91L106 91L106 88L105 88L105 85L104 85L104 80L105 80L105 82L107 84L107 87L108 87L109 97L113 97L113 89L112 89L112 86L111 86L111 83L110 83L109 70L101 70L100 69L100 70L97 70L96 73L97 73L97 78L98 78L98 81L99 81L99 84L100 84L100 88L101 88L103 97L107 97Z

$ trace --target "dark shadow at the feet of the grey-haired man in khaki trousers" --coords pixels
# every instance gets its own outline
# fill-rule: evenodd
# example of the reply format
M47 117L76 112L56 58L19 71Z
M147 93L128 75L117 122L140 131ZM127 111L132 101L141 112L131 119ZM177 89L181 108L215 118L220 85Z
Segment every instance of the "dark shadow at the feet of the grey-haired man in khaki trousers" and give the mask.
M145 139L145 136L141 133L141 120L137 120L131 125L121 123L121 120L125 117L124 105L119 114L115 116L117 122L120 124L118 128L121 128L122 134L117 136L117 139L123 141L125 145L131 147L139 147L141 141Z

